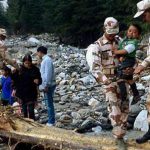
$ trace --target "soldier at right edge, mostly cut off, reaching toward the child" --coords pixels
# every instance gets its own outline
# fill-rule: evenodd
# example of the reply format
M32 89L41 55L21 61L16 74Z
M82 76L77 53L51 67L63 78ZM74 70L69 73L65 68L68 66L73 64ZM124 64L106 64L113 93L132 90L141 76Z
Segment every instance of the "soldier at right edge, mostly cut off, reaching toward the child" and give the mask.
M143 21L150 23L150 0L142 0L138 2L137 9L138 9L138 12L135 14L134 18L142 16ZM139 74L148 66L150 66L150 37L149 37L149 46L148 46L148 57L142 62L141 65L135 68L134 73ZM146 104L147 104L147 110L149 112L148 114L149 130L146 134L143 135L143 137L136 139L136 142L139 144L150 140L150 86L149 86L149 93L147 96Z

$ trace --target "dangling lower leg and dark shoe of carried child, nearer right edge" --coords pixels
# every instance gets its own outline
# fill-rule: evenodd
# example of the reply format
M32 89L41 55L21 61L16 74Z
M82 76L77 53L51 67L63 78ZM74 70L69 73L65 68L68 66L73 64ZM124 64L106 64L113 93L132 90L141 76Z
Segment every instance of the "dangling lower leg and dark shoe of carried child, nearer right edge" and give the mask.
M141 100L141 98L140 98L140 95L139 95L139 91L137 90L136 84L133 83L133 84L130 85L130 87L131 87L131 90L132 90L133 96L134 96L133 100L131 102L131 105L134 105L137 102L139 102Z

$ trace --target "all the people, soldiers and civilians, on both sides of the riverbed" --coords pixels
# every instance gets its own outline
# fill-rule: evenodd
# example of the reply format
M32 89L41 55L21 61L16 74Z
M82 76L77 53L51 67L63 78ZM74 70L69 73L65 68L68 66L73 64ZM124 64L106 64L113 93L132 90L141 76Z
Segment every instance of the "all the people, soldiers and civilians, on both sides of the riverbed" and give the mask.
M137 8L138 12L134 18L142 16L144 21L150 23L150 0L140 1L137 3ZM150 56L141 65L135 67L136 50L141 36L139 25L131 23L124 38L118 37L118 33L118 21L113 17L106 18L104 34L87 48L86 59L90 72L96 81L105 86L109 118L113 126L112 133L116 138L123 138L127 130L129 113L128 87L133 93L131 105L136 104L140 101L140 95L133 75L139 74L150 65ZM0 81L2 104L12 104L12 97L17 97L21 102L24 117L35 120L34 108L39 89L44 92L44 99L48 108L47 125L53 126L55 124L53 94L56 82L54 66L51 58L47 55L47 48L40 46L37 49L37 55L42 59L40 69L32 63L32 57L29 54L24 56L22 65L19 66L6 53L5 38L5 29L0 28L0 57L12 65L15 70L11 72L11 69L2 63L3 77ZM147 109L150 113L150 93L147 97ZM148 119L149 117L148 115ZM143 143L149 139L150 125L148 132L136 141Z

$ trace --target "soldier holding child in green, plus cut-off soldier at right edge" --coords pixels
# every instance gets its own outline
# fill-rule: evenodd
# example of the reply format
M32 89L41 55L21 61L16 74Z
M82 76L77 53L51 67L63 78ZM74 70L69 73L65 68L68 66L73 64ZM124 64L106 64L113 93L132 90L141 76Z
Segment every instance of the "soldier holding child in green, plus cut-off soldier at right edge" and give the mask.
M138 12L134 18L142 16L144 21L150 23L150 0L138 2L137 9ZM141 35L141 27L138 24L131 23L124 38L118 37L118 33L118 21L113 17L106 18L104 34L94 44L88 46L86 59L96 81L104 84L109 119L113 126L112 133L116 138L123 138L127 130L130 106L128 87L133 93L131 105L136 104L140 101L140 95L133 75L139 74L150 65L150 56L136 67L136 50L138 50ZM150 110L149 96L147 98L148 111ZM150 128L142 138L136 139L136 142L143 143L149 139Z

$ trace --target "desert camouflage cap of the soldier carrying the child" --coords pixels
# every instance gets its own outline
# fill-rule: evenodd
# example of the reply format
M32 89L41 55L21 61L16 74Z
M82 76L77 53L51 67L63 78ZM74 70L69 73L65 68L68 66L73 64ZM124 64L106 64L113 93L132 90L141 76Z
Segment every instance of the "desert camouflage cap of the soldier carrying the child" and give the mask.
M119 33L119 23L113 17L108 17L104 21L104 28L107 34L118 34Z

